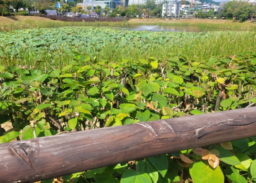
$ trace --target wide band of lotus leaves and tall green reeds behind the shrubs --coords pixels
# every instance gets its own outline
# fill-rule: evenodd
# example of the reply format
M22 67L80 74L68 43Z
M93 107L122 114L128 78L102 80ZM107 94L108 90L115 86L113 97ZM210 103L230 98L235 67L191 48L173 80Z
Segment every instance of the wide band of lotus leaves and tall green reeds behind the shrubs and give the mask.
M133 62L148 57L164 60L168 53L183 53L196 62L205 62L212 56L228 57L256 50L256 33L150 32L65 27L2 32L0 43L3 65L58 68L73 60L76 52L95 57L96 61L117 62L124 58Z

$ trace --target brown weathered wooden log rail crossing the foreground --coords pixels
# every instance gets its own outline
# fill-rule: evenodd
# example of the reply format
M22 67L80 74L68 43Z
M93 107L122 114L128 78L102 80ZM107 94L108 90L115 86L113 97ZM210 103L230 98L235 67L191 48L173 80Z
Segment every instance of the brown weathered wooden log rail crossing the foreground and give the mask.
M135 123L0 145L0 182L34 182L256 136L256 107Z

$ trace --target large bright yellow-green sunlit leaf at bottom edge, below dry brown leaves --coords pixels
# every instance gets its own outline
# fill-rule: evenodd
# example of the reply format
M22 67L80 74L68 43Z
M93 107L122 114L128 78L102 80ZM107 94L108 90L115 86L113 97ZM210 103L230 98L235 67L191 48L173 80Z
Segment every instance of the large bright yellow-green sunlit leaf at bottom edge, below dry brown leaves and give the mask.
M203 162L196 162L190 165L189 173L194 183L224 182L224 175L220 166L213 169L211 166L206 165Z

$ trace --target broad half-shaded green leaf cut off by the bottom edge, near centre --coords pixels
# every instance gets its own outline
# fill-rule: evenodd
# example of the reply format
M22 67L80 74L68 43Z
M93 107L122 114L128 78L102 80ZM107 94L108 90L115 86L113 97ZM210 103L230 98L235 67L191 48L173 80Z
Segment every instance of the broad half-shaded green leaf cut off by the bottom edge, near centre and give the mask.
M145 172L137 172L132 169L124 171L121 183L152 183L149 175Z

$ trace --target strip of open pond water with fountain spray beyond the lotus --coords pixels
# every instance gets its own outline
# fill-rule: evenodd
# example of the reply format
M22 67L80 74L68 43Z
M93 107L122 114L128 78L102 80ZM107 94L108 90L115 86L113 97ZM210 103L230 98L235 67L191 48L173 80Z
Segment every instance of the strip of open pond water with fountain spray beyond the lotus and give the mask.
M171 31L171 32L205 32L205 31L221 31L220 28L202 28L197 26L158 26L158 25L129 25L129 26L107 26L107 27L120 27L128 30L148 30L148 31Z

